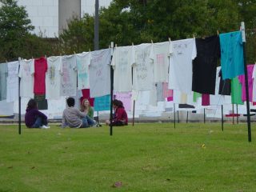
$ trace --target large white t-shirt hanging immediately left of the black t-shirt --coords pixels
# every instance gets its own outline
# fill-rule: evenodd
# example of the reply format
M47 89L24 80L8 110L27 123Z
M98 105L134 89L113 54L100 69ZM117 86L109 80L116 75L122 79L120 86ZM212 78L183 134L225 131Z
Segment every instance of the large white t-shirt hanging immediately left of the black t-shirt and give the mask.
M170 56L169 89L190 94L192 90L192 60L197 56L194 38L173 42Z

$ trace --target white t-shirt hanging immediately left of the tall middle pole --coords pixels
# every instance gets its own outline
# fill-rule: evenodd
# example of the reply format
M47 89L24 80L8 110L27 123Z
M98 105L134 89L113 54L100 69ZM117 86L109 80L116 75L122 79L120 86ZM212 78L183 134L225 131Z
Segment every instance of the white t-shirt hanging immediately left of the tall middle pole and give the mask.
M90 52L90 97L110 94L110 49Z

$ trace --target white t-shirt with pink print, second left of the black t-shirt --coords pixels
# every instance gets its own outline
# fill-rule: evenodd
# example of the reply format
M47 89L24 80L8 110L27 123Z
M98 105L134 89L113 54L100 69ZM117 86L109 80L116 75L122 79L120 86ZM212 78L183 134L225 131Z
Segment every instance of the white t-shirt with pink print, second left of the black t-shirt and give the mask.
M154 82L168 82L169 56L173 52L172 42L154 43Z

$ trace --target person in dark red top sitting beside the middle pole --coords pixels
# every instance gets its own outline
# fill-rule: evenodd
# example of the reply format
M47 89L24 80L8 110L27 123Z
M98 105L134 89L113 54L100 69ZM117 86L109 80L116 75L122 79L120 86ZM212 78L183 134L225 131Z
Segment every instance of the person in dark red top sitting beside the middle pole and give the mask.
M128 117L126 110L121 101L118 99L113 100L113 109L114 109L114 117L113 121L106 120L106 125L108 126L127 126L128 125Z

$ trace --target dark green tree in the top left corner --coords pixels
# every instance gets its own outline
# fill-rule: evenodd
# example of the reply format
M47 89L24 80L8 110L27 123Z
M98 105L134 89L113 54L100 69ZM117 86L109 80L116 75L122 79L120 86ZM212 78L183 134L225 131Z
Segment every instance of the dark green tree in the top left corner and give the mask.
M35 34L24 6L14 0L0 0L0 61L52 54L51 43Z

